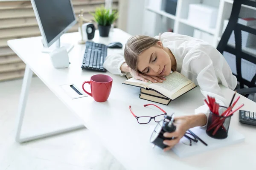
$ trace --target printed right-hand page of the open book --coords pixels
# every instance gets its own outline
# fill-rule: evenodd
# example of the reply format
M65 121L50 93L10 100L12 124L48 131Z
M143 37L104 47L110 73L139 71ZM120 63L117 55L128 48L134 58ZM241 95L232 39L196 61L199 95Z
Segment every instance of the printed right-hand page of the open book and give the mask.
M170 99L172 99L172 94L175 94L181 88L191 83L191 80L187 79L185 76L176 71L172 72L165 78L166 80L164 80L162 83L152 83L149 87L159 91L161 94L169 97Z

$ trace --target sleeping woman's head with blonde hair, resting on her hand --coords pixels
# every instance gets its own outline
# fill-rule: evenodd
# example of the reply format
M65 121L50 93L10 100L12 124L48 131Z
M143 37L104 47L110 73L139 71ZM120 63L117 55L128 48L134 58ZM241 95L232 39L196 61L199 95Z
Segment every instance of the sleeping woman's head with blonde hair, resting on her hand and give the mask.
M125 61L134 71L149 76L167 76L172 69L170 56L163 43L145 35L133 36L128 40Z

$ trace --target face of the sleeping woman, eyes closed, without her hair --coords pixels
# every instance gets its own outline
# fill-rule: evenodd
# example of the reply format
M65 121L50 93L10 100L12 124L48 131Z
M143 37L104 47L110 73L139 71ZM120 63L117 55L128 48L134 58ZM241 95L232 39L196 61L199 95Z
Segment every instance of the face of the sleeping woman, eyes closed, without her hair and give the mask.
M171 73L171 59L162 42L158 41L140 54L137 69L148 76L168 76Z

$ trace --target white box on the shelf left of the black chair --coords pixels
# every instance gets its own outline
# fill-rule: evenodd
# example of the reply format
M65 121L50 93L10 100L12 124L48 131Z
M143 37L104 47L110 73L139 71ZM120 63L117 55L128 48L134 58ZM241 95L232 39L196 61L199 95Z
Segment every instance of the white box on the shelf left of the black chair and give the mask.
M189 4L188 21L199 26L215 28L218 8L201 3Z

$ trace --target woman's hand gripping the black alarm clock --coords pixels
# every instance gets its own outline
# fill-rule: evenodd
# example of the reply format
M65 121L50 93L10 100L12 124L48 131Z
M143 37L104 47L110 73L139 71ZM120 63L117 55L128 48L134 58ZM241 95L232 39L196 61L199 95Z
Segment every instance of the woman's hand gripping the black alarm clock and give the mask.
M163 143L168 145L169 147L164 148L164 151L170 150L175 144L177 144L180 139L184 136L187 130L189 130L189 118L188 116L179 116L175 117L174 125L176 126L176 130L172 133L163 133L164 137L174 137L172 140L164 140Z

